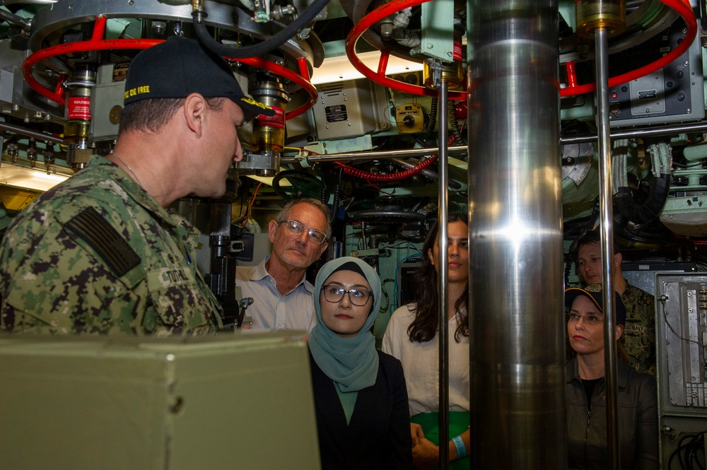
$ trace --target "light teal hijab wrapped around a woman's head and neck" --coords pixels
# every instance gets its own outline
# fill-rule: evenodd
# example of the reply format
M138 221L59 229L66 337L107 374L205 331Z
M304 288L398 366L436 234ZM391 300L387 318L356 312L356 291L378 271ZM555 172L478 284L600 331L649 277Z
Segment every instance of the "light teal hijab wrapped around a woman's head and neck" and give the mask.
M322 286L334 271L346 263L355 263L373 292L373 309L356 336L341 338L322 321L320 295ZM314 310L317 324L310 331L308 345L315 363L327 377L339 384L341 392L356 392L375 384L378 375L378 352L370 328L380 307L380 278L366 262L354 257L341 257L326 263L317 274L314 284Z

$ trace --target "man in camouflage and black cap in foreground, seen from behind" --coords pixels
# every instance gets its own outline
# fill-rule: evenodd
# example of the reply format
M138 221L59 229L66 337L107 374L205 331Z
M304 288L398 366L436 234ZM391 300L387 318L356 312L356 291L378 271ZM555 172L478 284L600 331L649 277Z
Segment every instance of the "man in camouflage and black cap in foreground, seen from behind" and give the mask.
M272 110L230 66L173 37L129 66L119 134L105 157L25 208L0 245L0 330L197 334L221 306L197 271L196 228L167 207L219 197L243 158L236 128Z

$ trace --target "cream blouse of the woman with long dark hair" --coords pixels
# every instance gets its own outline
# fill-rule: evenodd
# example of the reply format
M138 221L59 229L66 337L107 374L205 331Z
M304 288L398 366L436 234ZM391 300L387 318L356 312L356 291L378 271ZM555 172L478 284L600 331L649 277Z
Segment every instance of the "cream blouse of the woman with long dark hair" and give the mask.
M439 411L439 335L432 341L410 341L407 328L415 317L415 304L399 307L390 317L383 336L382 351L402 362L407 384L410 416ZM449 409L469 411L469 338L454 334L460 315L448 323Z

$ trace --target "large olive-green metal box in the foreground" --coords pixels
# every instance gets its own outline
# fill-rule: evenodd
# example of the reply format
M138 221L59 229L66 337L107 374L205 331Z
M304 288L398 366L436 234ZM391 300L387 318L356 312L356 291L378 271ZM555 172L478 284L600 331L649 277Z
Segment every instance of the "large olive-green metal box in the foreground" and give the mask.
M289 335L5 335L0 383L3 470L320 469Z

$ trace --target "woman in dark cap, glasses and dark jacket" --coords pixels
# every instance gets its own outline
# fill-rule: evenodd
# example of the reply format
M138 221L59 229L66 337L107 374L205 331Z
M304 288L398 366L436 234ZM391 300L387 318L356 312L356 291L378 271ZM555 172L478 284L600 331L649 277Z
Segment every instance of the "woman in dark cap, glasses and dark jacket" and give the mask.
M607 469L604 310L602 286L565 290L567 336L577 356L567 364L569 469ZM626 308L614 300L616 337L621 338ZM617 403L621 469L658 470L658 409L655 378L636 372L621 357L617 341Z

